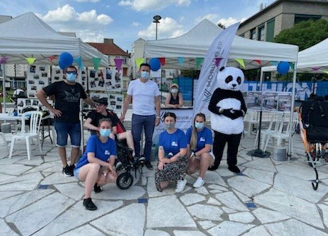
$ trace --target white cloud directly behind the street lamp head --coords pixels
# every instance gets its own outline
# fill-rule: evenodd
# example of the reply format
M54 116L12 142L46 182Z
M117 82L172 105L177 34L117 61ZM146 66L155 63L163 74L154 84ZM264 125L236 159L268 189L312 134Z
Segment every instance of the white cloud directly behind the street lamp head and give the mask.
M139 37L145 39L155 39L156 26L151 23L147 29L138 33ZM183 26L171 17L165 17L158 24L158 38L177 37L184 33Z

